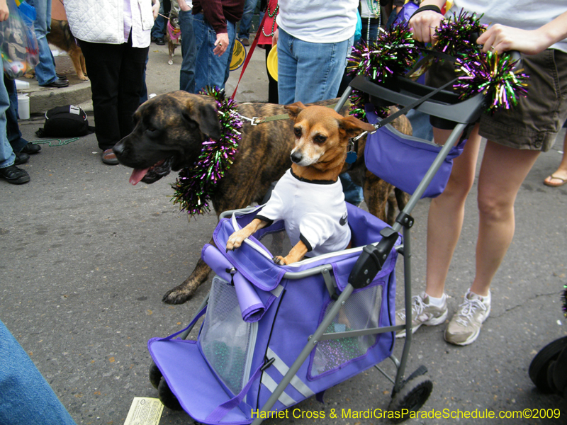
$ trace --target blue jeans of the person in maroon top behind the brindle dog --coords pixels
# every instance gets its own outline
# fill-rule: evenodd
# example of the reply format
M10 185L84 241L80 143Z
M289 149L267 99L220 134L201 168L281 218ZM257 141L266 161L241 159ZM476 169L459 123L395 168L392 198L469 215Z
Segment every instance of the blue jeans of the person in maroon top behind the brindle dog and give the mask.
M235 44L235 24L227 21L228 49L223 56L215 56L213 50L217 35L210 26L203 13L193 15L193 32L197 45L196 67L195 67L195 93L206 86L225 88L230 73L230 59L232 58L232 47Z

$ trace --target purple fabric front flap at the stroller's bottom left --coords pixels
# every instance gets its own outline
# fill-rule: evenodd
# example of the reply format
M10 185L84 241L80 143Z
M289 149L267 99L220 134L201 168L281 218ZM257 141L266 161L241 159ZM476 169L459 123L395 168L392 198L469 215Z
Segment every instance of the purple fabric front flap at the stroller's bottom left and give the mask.
M148 341L150 354L181 407L196 421L205 424L249 424L240 409L232 409L222 422L206 422L206 417L230 396L218 384L198 350L196 341L172 339Z

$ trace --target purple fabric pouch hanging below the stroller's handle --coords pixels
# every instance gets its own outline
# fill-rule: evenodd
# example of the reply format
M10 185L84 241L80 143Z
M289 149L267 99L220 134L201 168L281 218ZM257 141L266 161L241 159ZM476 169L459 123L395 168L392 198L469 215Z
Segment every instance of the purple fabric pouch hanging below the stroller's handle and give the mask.
M366 117L371 124L379 121L374 113L374 106L371 105L366 106ZM453 159L463 152L463 148L464 144L461 144L451 149L422 198L434 198L444 191L451 174ZM415 138L400 137L385 125L366 138L364 161L373 174L412 194L440 150L441 147L420 142Z

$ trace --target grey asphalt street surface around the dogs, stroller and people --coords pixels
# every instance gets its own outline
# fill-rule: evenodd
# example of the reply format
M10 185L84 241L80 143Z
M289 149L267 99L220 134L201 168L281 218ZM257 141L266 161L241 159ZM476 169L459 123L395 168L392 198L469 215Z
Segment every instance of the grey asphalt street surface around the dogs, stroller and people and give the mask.
M148 92L178 89L180 64L179 50L174 64L168 65L167 46L152 43ZM240 70L231 73L228 94L239 76ZM74 84L82 89L88 82ZM67 89L52 89L50 96L55 98L57 90ZM77 91L73 98L73 89L67 91L72 97L67 103L81 103L89 111L83 95ZM263 50L254 52L236 100L267 100ZM92 115L89 123L103 125L94 123ZM184 327L208 293L210 280L184 305L162 302L162 295L193 270L213 232L215 215L188 220L179 212L169 200L173 174L152 185L131 186L130 169L101 163L94 135L47 143L35 136L43 126L40 113L20 125L24 137L42 143L42 150L22 166L30 183L0 181L0 319L77 424L123 424L134 397L157 397L147 378L147 340ZM408 374L425 365L434 383L422 411L449 418L410 419L408 424L474 424L479 419L464 419L463 412L485 409L496 417L481 423L566 423L566 399L542 394L528 376L536 353L567 335L561 310L567 283L567 186L542 184L561 159L562 136L550 152L540 155L520 188L515 239L493 281L492 312L478 340L471 346L451 346L443 339L445 324L422 327L414 335ZM422 200L412 214L414 292L424 286L427 207L428 201ZM475 185L447 281L451 314L473 278L477 224ZM400 261L398 305L402 281ZM397 342L399 357L403 344ZM389 361L383 368L393 370ZM292 419L290 414L290 419L266 423L383 423L342 417L341 412L387 409L392 387L376 370L368 370L327 390L325 404L311 398L297 406L299 412L325 411L327 419ZM329 417L331 409L338 413L336 419ZM553 409L558 409L559 418L535 417ZM498 418L513 412L534 417L518 419L515 413L517 419ZM164 409L159 423L193 421L184 412Z

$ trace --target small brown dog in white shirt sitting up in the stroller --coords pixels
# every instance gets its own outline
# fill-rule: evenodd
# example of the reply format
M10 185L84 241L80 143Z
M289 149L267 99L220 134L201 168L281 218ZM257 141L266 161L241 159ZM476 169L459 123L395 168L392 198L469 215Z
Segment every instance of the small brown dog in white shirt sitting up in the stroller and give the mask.
M339 174L347 159L349 140L364 130L374 130L371 124L325 106L306 108L298 102L286 106L286 110L295 121L291 169L276 184L259 215L234 232L226 246L234 250L258 229L284 220L293 248L285 258L274 257L281 266L300 261L308 253L317 256L350 246Z

